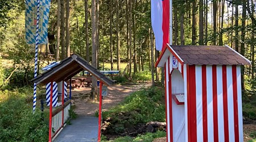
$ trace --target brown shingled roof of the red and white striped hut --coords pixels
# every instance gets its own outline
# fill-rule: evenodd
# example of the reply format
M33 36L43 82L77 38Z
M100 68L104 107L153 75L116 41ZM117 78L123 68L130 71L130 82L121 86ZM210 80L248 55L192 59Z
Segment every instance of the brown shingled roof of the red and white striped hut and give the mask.
M166 53L168 52L168 53ZM234 49L225 46L204 46L204 45L168 45L164 49L159 61L164 61L164 57L170 54L176 56L176 59L183 64L188 65L250 65L251 62L234 51ZM161 59L163 56L163 59ZM160 61L162 60L162 61ZM160 66L162 66L160 65ZM158 65L159 66L159 65Z

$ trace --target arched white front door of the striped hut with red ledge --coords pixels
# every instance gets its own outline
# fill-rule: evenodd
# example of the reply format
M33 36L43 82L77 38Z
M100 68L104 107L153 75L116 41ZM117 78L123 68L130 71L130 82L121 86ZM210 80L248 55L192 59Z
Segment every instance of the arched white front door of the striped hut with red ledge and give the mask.
M184 97L184 80L179 70L172 71L171 76L172 93L172 133L173 140L185 141L185 107L184 103L177 102L176 95ZM182 100L181 100L182 101Z

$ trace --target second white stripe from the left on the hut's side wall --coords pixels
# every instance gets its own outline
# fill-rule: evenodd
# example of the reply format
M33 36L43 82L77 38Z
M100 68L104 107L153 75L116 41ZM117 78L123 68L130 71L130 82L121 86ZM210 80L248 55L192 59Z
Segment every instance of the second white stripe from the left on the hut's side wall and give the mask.
M207 129L208 141L214 141L213 131L213 89L212 89L212 66L207 66Z

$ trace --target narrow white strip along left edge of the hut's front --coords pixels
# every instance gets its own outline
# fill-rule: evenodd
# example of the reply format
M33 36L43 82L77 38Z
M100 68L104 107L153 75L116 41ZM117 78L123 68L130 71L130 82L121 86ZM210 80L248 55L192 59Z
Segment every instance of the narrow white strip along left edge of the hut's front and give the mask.
M167 126L167 130L168 130L168 142L170 141L170 139L171 139L171 135L170 135L170 102L169 102L169 85L168 85L168 83L169 83L169 73L168 73L168 68L169 68L169 66L168 66L168 60L166 61L166 101L167 101L167 106L166 106L166 108L167 108L167 121L168 121L168 126Z

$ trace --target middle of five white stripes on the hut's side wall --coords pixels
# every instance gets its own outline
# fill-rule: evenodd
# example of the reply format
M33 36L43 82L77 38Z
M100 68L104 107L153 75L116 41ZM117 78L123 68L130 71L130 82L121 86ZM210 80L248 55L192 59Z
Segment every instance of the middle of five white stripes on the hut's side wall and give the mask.
M218 113L218 141L225 141L222 66L217 66L217 113Z

